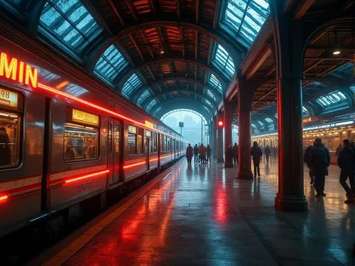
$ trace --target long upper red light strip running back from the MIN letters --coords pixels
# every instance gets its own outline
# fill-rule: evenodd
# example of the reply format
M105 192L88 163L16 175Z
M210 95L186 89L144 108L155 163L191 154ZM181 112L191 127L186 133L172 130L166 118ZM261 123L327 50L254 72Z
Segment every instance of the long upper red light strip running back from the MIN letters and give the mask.
M134 119L131 119L131 118L126 117L126 116L124 116L124 115L120 115L120 114L118 114L118 113L116 113L116 112L114 112L114 111L111 111L111 110L107 109L107 108L101 107L101 106L99 106L99 105L95 105L95 104L92 103L92 102L88 102L88 101L86 101L86 100L82 100L82 99L80 99L80 98L78 98L78 97L75 97L75 96L73 96L73 95L70 95L70 94L68 94L68 93L66 93L66 92L62 92L62 91L57 90L57 89L55 89L55 88L53 88L53 87L49 87L49 86L47 86L47 85L44 85L43 83L38 83L38 84L37 84L37 87L39 87L39 88L41 88L41 89L43 89L43 90L47 90L48 92L55 93L56 95L61 95L62 97L67 97L67 98L69 98L69 99L71 99L71 100L75 100L75 102L80 102L80 103L82 103L82 104L84 104L84 105L87 105L87 106L89 106L89 107L93 107L94 109L100 110L100 111L102 111L102 112L106 112L106 113L109 114L109 115L114 115L115 117L119 117L119 118L124 119L124 120L126 120L126 121L129 121L129 122L132 122L132 123L135 123L135 124L139 124L141 127L145 127L145 128L147 128L147 129L150 129L150 130L151 130L150 127L146 127L146 123L138 122L138 121L136 121L136 120L134 120ZM159 130L159 129L154 129L154 130L155 130L156 132L161 133L161 134L165 134L165 135L167 135L167 136L169 136L169 137L175 138L175 136L172 136L172 135L170 135L170 134L168 134L168 133L165 133L165 132L163 132L163 131L161 131L161 130ZM180 139L180 140L182 140L182 139Z

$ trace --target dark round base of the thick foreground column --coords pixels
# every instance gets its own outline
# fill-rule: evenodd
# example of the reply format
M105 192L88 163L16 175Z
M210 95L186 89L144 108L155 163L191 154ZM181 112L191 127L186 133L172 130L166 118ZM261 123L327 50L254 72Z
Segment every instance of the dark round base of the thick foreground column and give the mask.
M275 197L275 209L278 211L307 211L308 203L305 195L285 195L277 193Z

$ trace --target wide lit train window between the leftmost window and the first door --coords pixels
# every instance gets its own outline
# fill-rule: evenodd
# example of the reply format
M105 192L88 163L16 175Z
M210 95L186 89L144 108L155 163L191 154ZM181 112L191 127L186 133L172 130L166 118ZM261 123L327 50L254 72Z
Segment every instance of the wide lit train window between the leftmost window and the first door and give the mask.
M84 161L99 158L99 129L82 124L65 123L65 161Z

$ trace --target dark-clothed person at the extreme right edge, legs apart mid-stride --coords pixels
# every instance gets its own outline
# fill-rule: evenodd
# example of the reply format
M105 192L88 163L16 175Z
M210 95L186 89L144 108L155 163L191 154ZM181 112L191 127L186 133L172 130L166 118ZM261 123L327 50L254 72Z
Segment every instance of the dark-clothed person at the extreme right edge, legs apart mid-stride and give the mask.
M354 191L354 150L350 147L349 139L343 140L343 149L340 151L337 163L340 167L339 183L342 185L346 192L347 199L344 201L346 204L352 203ZM351 188L346 183L349 178Z

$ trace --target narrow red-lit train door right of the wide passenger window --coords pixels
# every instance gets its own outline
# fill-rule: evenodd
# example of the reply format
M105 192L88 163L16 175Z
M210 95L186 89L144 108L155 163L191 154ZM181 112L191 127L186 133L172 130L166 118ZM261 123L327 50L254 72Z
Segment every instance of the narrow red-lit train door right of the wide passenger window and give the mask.
M109 121L109 185L120 181L121 178L121 123L116 119Z

